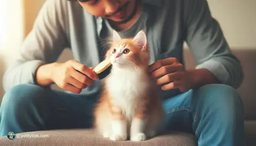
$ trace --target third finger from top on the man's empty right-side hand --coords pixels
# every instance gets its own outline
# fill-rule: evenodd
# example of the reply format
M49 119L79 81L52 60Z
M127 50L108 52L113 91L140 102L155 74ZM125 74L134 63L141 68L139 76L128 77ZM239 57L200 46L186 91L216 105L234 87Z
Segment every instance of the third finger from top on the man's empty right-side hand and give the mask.
M163 85L169 82L173 82L174 80L179 80L182 78L181 72L173 72L171 74L164 75L163 77L156 80L157 85Z

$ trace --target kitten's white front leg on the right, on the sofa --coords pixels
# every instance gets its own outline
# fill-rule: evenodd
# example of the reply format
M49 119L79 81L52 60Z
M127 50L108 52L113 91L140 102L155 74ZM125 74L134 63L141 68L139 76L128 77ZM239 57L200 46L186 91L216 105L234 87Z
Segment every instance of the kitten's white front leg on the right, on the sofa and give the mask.
M147 118L145 116L135 116L131 124L131 141L145 141L147 139L145 127Z

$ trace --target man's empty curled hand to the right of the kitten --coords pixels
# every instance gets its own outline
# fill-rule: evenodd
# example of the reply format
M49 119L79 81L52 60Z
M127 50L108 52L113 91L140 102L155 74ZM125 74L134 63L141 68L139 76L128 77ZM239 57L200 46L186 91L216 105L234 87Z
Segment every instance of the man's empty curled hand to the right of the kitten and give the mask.
M189 72L176 58L156 61L149 66L149 72L153 79L158 78L156 84L161 85L164 91L179 88L181 92L186 92L193 87Z

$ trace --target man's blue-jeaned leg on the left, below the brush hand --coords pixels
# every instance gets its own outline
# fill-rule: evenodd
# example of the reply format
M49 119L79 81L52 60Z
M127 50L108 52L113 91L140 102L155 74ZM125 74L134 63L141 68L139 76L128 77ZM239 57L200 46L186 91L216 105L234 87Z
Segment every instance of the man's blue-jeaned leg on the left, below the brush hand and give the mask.
M96 102L94 97L37 85L15 86L4 95L1 104L0 136L9 131L90 128Z

